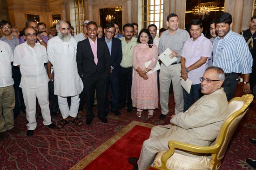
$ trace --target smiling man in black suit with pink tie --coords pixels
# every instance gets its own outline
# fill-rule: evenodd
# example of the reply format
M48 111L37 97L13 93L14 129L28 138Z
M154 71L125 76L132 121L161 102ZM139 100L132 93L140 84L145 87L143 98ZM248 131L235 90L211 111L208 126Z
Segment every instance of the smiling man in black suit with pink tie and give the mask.
M110 73L111 58L108 46L103 41L97 41L97 24L90 21L87 24L88 38L77 44L77 69L84 83L87 120L90 125L94 118L94 90L98 102L98 117L103 123L108 123L104 109L106 82Z

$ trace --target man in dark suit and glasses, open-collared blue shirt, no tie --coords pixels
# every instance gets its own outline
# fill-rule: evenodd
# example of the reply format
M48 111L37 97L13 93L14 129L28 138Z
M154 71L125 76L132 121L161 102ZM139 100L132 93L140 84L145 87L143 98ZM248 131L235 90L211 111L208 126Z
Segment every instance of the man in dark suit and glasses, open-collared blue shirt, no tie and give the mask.
M105 97L105 112L109 113L109 102L108 102L108 91L109 85L111 86L110 97L111 97L111 110L110 112L115 115L120 115L117 110L118 98L119 98L119 72L120 63L122 60L122 45L121 40L114 38L115 35L115 25L108 23L104 27L105 36L99 40L106 42L108 45L109 53L111 54L111 66L110 74L108 75L106 84L106 97Z

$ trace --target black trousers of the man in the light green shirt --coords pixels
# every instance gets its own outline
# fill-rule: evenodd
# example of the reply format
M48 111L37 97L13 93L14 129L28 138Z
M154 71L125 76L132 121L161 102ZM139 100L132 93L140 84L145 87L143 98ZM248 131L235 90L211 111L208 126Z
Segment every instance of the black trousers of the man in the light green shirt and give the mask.
M133 79L133 68L120 68L119 75L119 107L132 107L131 89Z

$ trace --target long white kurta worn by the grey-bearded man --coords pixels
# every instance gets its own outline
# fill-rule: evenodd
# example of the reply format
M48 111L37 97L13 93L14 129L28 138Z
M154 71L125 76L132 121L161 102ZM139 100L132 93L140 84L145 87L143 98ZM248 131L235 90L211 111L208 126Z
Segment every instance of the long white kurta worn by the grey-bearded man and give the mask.
M54 94L67 97L82 92L83 82L76 63L77 41L64 42L56 36L47 43L48 60L54 66Z

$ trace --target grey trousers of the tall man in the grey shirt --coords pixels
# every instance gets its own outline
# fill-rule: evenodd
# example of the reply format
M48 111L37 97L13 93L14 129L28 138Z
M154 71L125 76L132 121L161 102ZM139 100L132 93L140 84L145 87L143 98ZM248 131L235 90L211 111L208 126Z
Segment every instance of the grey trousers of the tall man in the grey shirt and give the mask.
M174 64L165 67L161 64L159 81L160 81L160 105L162 114L167 115L169 112L169 88L172 81L174 102L175 102L175 114L183 112L183 91L181 86L181 64Z

